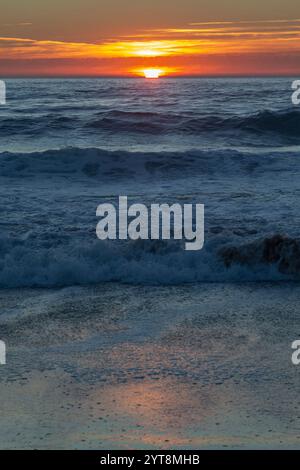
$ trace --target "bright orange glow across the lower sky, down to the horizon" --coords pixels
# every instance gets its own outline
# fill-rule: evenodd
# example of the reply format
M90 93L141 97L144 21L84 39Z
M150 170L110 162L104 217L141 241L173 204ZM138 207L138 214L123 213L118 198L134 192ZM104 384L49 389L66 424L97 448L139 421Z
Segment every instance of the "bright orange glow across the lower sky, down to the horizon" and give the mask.
M159 70L159 76L294 75L300 72L300 21L190 23L95 42L2 36L0 55L3 75L145 77L148 69Z

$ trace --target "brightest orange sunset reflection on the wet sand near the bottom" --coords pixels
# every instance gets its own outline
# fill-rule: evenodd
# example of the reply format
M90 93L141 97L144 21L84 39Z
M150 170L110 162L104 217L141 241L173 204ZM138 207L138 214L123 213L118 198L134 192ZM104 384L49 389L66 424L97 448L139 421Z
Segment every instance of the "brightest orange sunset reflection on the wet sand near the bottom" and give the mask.
M191 426L201 426L213 413L213 404L206 392L174 378L138 381L105 388L102 404L113 420L122 422L124 442L137 437L147 443L155 441L173 445L180 442ZM94 397L97 403L98 393ZM216 409L218 404L214 403Z

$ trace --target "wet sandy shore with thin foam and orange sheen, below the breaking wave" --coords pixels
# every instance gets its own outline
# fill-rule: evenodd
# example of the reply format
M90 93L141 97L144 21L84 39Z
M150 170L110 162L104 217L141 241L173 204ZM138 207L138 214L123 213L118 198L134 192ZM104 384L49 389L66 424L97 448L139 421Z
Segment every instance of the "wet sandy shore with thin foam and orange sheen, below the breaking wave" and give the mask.
M297 284L0 291L3 449L300 448Z

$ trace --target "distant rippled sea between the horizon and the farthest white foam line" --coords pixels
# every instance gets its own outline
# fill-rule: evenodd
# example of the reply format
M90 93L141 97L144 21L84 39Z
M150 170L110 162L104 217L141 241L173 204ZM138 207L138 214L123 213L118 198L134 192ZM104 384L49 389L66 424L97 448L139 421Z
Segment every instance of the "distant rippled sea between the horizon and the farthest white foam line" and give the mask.
M292 79L8 80L0 150L300 144Z

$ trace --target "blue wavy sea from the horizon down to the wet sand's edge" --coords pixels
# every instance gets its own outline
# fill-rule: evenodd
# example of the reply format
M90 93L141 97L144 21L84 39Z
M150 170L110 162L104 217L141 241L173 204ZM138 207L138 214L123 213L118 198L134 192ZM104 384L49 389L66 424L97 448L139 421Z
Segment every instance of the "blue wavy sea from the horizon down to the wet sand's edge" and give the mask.
M7 80L0 286L298 279L292 81ZM204 250L97 240L121 194L205 204Z

